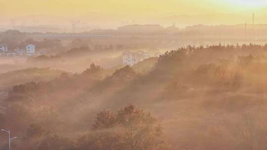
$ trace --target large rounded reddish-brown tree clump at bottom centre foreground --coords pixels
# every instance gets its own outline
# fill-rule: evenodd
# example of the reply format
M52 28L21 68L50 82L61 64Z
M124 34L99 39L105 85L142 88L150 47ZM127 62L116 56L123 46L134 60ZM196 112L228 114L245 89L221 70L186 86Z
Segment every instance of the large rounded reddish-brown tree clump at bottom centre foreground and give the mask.
M129 105L113 113L103 110L93 132L78 140L78 150L168 150L162 126L150 113Z

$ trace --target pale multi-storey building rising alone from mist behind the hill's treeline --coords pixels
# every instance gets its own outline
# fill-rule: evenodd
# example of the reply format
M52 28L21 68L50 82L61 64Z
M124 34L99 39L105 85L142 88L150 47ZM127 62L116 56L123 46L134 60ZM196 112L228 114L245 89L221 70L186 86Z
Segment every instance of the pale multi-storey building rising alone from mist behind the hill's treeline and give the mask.
M133 66L135 63L143 61L144 59L149 58L149 55L146 52L138 51L138 52L123 52L123 64Z

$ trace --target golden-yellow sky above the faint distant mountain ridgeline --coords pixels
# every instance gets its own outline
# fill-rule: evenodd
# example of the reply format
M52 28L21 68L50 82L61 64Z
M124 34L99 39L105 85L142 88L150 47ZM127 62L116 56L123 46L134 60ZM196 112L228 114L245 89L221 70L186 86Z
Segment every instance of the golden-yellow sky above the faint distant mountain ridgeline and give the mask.
M6 15L183 13L198 14L240 11L264 7L267 0L0 0ZM159 11L159 12L158 12Z

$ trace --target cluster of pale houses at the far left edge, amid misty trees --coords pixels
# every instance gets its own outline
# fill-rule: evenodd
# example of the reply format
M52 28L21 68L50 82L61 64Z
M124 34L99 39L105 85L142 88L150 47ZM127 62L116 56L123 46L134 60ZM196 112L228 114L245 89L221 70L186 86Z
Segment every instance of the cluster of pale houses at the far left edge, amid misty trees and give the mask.
M0 44L0 56L33 56L37 55L35 45L28 44L23 48L9 50L7 44Z

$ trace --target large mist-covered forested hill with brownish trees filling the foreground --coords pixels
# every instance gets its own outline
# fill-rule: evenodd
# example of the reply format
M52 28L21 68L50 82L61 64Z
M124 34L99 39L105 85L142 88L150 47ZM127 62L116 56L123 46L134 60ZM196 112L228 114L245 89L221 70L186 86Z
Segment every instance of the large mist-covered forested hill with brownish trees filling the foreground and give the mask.
M61 150L267 148L266 52L267 45L187 46L112 75L91 64L15 86L0 104L0 126L23 137L17 150L51 150L48 142Z

